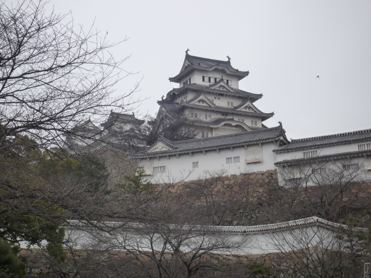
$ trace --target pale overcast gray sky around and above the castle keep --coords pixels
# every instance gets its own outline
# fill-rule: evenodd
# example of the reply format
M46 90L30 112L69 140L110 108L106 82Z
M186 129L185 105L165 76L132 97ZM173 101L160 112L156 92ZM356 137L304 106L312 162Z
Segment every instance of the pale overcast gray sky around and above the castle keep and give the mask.
M140 111L154 115L157 100L178 87L184 51L227 60L249 70L240 89L262 93L256 105L275 112L288 138L371 128L371 1L81 1L52 0L57 13L72 11L75 24L95 27L127 42L117 59L139 72L117 85L128 92L141 82L149 97ZM316 76L319 75L319 79Z

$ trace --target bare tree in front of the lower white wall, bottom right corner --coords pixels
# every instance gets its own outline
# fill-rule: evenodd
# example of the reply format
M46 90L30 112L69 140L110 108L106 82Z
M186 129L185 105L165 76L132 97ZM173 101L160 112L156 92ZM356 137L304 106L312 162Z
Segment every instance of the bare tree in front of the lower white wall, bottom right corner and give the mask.
M272 249L279 251L284 277L361 277L362 264L370 257L367 229L358 220L347 225L334 223L285 228L268 236Z

